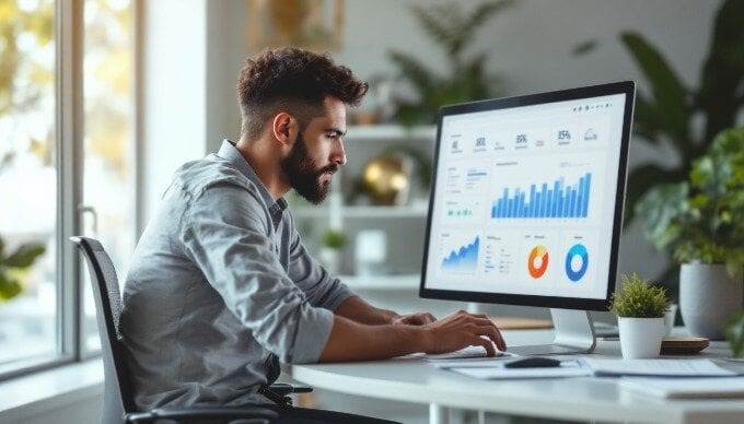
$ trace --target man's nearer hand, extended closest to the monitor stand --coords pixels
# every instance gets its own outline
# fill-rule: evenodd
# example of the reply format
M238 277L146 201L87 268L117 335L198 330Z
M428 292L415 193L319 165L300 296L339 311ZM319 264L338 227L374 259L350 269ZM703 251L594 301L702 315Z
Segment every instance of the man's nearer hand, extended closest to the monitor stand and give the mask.
M507 350L501 332L493 321L483 314L458 310L438 321L423 325L423 329L427 332L426 353L445 353L479 345L486 349L488 356L493 356L496 351L491 342L496 343L499 350Z

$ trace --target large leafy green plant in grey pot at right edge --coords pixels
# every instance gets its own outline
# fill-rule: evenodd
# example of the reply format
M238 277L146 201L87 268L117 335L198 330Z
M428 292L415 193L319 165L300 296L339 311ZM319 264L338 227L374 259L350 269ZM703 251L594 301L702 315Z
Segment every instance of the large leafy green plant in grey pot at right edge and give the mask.
M744 127L717 136L688 181L649 190L636 213L646 237L682 264L679 311L690 334L723 339L744 290Z

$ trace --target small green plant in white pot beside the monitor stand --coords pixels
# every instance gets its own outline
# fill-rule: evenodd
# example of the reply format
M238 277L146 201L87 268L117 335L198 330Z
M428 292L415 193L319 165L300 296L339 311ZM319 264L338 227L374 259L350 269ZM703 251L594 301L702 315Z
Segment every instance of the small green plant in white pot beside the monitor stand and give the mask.
M609 311L617 316L624 358L659 356L669 308L665 288L651 285L636 273L620 275L620 290L613 294Z

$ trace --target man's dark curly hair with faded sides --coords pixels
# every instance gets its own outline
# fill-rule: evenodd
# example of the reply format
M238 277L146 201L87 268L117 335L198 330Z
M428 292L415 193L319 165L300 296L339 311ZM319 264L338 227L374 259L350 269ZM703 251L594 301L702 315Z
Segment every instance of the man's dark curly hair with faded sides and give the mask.
M312 118L324 114L326 96L357 106L368 89L367 82L356 79L349 68L335 64L327 54L293 47L264 51L246 60L237 80L241 134L258 139L266 122L282 110L304 130Z

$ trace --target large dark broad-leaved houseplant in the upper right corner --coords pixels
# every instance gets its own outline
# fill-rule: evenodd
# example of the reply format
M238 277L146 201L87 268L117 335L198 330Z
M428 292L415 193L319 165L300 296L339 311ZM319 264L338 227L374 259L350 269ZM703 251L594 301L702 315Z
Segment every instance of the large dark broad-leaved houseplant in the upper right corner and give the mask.
M649 163L629 172L626 223L632 220L637 201L654 184L685 180L693 160L706 152L716 134L737 123L744 108L742 16L741 0L726 0L718 10L696 86L686 86L660 49L641 34L620 35L649 86L648 93L637 93L633 133L639 138L635 142L667 144L677 156L675 165Z

